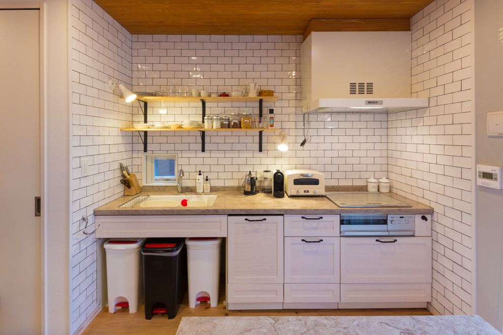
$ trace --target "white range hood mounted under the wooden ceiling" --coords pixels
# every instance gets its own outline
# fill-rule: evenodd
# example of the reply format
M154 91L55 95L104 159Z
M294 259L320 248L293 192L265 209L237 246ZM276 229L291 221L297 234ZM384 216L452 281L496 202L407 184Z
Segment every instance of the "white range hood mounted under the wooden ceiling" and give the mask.
M302 112L390 113L411 96L410 31L314 31L301 45Z

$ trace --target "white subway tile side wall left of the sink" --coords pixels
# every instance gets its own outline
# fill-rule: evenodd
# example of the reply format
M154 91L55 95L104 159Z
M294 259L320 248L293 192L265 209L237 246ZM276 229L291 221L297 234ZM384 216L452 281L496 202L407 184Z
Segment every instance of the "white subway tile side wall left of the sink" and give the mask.
M119 161L132 163L131 107L108 87L113 78L131 88L131 34L91 0L72 1L73 219L70 308L74 333L98 307L97 242L82 233L82 216L94 228L93 210L123 195ZM86 176L81 160L89 164Z

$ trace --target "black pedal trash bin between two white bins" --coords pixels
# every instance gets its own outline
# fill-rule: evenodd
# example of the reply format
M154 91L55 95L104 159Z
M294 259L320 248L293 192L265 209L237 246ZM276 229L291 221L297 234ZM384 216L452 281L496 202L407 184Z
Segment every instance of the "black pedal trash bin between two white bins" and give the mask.
M166 313L173 319L186 286L187 252L183 238L150 238L141 247L145 319Z

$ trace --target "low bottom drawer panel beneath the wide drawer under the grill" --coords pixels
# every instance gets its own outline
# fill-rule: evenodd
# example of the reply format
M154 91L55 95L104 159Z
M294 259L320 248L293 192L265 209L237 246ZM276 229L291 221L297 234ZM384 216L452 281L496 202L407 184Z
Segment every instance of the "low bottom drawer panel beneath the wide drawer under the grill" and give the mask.
M341 303L431 301L431 284L340 284Z

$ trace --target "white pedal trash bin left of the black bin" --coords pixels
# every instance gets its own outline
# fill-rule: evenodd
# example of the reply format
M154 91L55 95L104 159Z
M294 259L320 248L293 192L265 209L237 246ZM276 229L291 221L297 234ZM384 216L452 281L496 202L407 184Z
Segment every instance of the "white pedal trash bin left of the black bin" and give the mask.
M107 257L108 312L129 307L138 312L143 304L143 257L145 239L109 239L104 247Z

